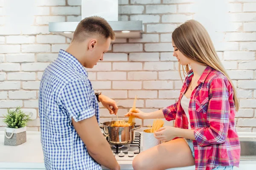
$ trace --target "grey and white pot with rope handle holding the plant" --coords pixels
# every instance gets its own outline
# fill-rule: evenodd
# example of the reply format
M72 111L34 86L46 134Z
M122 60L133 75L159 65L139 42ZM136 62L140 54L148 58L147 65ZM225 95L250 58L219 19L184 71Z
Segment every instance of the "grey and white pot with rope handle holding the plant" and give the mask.
M17 146L26 142L26 127L9 128L6 127L4 144L10 146Z

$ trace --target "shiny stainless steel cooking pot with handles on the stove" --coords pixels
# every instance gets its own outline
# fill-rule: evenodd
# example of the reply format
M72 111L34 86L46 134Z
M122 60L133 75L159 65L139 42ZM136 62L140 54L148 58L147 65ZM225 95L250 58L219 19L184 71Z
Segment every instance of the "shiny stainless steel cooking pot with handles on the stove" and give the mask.
M103 129L103 135L106 137L108 143L115 145L131 144L134 141L134 130L139 129L141 125L131 125L126 127L111 126L116 122L115 120L100 123L100 128Z

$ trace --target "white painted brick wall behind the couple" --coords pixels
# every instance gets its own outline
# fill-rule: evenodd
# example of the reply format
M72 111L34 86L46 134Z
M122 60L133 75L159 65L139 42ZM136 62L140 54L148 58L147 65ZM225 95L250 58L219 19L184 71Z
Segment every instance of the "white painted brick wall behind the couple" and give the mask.
M119 117L124 117L132 107L136 94L137 107L145 112L177 100L182 82L172 52L172 32L186 20L198 17L195 4L198 2L119 0L119 20L142 20L143 38L111 42L104 60L87 69L95 90L120 101ZM21 106L24 111L33 112L34 120L29 122L28 130L35 131L40 125L38 89L42 74L58 57L60 48L65 50L70 42L50 33L48 23L80 21L81 0L38 0L36 6L31 26L0 26L0 119L7 108ZM5 5L0 0L0 15L2 7ZM236 114L236 128L256 132L256 0L229 0L225 10L223 18L229 20L227 26L216 27L218 31L212 34L210 31L215 32L211 30L215 27L207 27L209 22L204 25L238 90L241 109ZM215 14L210 17L212 23L222 22ZM1 23L4 22L0 20ZM116 119L100 106L101 121ZM137 120L137 123L152 125L152 120ZM165 125L173 125L173 121L165 121ZM0 130L3 126L0 123Z

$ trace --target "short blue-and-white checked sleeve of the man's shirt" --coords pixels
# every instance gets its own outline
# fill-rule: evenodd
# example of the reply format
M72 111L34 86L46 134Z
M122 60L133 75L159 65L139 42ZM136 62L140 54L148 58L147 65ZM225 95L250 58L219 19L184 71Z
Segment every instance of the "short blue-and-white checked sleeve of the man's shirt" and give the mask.
M83 79L73 80L64 87L59 99L61 107L67 111L70 119L73 117L79 122L95 115L95 109L91 104L95 96L92 93Z

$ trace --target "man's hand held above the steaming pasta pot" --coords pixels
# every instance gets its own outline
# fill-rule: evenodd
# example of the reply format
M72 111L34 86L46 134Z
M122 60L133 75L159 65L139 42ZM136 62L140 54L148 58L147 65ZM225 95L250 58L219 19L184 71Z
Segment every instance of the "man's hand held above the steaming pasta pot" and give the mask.
M108 109L110 114L116 114L118 111L118 107L116 105L116 101L113 99L101 94L99 95L99 101L102 103L102 105Z

